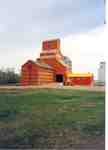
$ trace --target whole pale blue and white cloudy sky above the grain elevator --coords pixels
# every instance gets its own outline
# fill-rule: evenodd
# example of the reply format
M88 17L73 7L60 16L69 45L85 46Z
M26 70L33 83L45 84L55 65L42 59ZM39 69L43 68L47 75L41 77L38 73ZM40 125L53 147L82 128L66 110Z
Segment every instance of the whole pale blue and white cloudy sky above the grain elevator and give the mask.
M0 68L35 60L43 40L60 38L73 71L93 72L107 50L104 0L0 0Z

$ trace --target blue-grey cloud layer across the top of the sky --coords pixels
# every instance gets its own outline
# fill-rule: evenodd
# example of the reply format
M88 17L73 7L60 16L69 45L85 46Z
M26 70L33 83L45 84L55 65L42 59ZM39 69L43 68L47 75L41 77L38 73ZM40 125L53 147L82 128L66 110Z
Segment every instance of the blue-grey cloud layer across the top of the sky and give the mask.
M38 47L45 38L87 32L104 15L104 0L0 0L0 48Z

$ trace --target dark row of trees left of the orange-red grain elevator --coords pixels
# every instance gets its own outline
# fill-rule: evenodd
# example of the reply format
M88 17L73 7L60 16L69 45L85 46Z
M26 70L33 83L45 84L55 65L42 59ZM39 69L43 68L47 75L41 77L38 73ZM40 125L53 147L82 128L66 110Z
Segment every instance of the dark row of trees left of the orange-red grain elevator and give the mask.
M20 75L15 73L14 69L0 69L0 84L16 84L19 83Z

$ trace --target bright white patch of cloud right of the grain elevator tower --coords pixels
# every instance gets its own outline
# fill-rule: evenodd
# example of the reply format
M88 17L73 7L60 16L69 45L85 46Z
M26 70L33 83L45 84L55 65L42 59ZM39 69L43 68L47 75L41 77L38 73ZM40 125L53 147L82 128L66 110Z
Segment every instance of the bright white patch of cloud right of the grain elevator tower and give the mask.
M70 35L62 39L62 51L72 60L73 71L93 72L97 79L100 61L106 61L108 27L106 25L92 32Z

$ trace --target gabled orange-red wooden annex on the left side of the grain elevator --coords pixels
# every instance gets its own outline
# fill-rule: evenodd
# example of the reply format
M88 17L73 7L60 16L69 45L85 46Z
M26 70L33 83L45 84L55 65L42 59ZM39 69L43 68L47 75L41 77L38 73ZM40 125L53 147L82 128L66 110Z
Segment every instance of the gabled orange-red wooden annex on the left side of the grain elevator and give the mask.
M28 60L22 66L21 85L40 85L52 83L54 73L52 67L44 63Z

